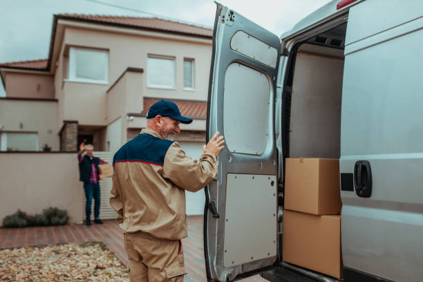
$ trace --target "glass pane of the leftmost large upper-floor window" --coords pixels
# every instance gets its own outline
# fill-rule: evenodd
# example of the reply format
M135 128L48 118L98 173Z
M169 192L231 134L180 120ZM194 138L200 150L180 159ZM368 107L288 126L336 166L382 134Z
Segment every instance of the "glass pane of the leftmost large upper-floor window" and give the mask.
M75 50L75 78L107 81L107 53L98 50Z

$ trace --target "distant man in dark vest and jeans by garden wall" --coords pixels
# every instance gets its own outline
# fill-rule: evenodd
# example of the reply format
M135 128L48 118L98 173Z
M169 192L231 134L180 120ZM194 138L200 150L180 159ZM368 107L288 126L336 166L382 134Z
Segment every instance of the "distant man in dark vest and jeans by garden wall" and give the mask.
M82 142L79 145L79 181L84 182L85 191L85 224L91 225L91 203L94 197L94 222L102 224L100 220L100 185L98 184L98 165L106 164L101 158L93 156L94 147Z

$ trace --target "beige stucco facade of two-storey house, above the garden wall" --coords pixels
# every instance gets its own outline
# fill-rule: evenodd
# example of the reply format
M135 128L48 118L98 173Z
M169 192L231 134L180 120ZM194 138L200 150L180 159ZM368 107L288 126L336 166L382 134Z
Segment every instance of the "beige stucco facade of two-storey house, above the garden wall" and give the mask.
M39 144L51 144L53 151L66 151L74 146L66 146L66 140L61 141L62 131L66 122L77 122L77 142L88 136L89 141L97 145L96 149L115 150L127 141L129 130L136 131L146 126L145 116L131 116L131 113L142 112L144 97L207 101L211 33L209 37L200 37L166 30L105 25L77 18L58 18L53 32L54 40L46 68L0 64L6 88L6 98L0 98L0 107L6 111L0 114L3 126L0 126L0 131L22 131L15 124L19 116L24 124L28 124L25 130L38 133ZM72 48L106 52L106 81L81 82L73 79L70 75ZM149 86L149 56L173 59L174 87ZM193 62L194 87L189 89L184 88L185 59ZM48 109L35 110L34 103L27 101L19 103L19 109L13 111L8 108L11 103L8 98L45 103L44 108ZM32 123L39 126L30 126ZM48 125L48 132L53 133L46 135L44 125ZM181 126L181 129L204 132L205 120L195 118L193 124ZM116 135L120 136L119 140Z

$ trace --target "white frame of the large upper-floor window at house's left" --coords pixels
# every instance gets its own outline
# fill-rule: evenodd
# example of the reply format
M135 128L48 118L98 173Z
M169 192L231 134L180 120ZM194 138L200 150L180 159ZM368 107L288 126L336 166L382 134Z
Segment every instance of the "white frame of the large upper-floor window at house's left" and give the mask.
M76 77L76 53L75 50L88 50L106 54L106 73L105 79L87 79ZM95 48L84 48L84 47L69 47L69 58L68 58L68 75L66 82L83 82L93 84L109 84L109 50L106 49L95 49Z

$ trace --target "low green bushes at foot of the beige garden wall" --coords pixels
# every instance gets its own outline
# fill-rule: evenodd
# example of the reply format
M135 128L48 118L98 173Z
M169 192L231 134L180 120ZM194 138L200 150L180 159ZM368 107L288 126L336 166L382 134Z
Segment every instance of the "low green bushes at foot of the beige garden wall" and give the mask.
M10 227L30 227L30 226L48 226L48 225L65 225L68 223L68 212L57 207L48 207L43 209L42 214L31 216L22 212L20 209L3 218L3 228Z

